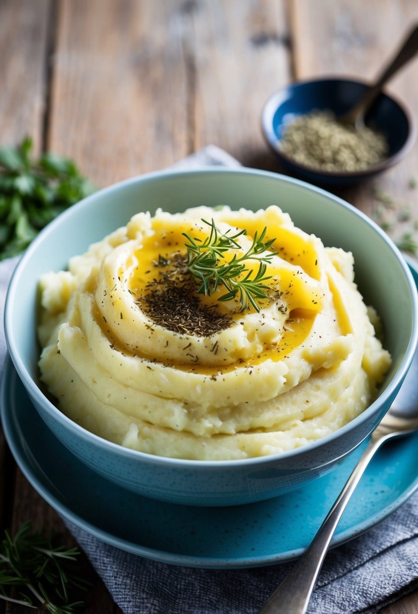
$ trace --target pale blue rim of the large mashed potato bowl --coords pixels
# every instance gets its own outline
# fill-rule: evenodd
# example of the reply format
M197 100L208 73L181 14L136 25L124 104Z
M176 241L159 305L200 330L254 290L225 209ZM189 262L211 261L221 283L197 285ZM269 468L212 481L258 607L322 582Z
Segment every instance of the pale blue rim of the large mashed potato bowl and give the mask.
M266 456L256 456L256 457L248 457L245 459L232 459L232 460L197 460L197 459L182 459L182 458L173 458L169 456L159 456L156 454L149 454L145 452L141 452L139 450L134 450L131 448L125 448L122 445L117 443L113 443L112 441L108 441L95 433L92 433L85 429L84 427L77 424L77 422L72 421L72 419L68 418L66 414L64 414L61 410L58 409L51 401L47 398L47 396L42 392L42 389L38 386L36 381L32 378L28 369L26 368L25 362L19 355L17 351L17 346L15 344L15 340L12 335L13 330L13 300L17 300L16 298L16 286L18 282L18 278L21 272L25 269L26 263L31 259L32 254L36 252L37 246L47 238L48 235L54 232L55 227L62 225L66 222L67 217L72 216L72 211L77 209L88 208L91 201L97 200L97 198L102 198L104 195L112 194L112 192L118 192L125 187L129 187L135 184L141 184L142 182L158 182L161 179L170 179L173 177L188 177L188 176L198 176L202 174L203 176L216 176L216 174L230 174L237 176L255 176L255 177L265 177L266 179L273 179L278 182L287 182L293 185L296 185L302 190L306 190L307 192L316 192L317 194L327 198L328 200L333 201L337 206L347 209L351 212L352 215L360 217L363 222L367 223L371 230L377 233L384 243L390 248L395 257L398 260L398 264L401 266L403 273L408 281L409 290L411 292L411 300L412 300L412 330L411 336L409 338L408 347L406 352L398 365L397 372L392 377L389 384L387 384L386 389L382 391L379 397L374 400L359 416L356 416L351 421L344 424L344 426L340 427L329 433L324 435L324 437L320 437L317 440L312 440L306 443L303 446L298 448L293 448L291 450L284 451L282 453L268 454ZM127 222L128 220L126 220ZM416 270L418 272L418 266L416 266ZM344 201L339 196L333 195L331 192L324 190L323 188L317 187L316 185L309 184L308 182L302 181L300 179L295 179L294 177L289 177L286 175L282 175L279 173L273 173L271 171L263 171L260 169L253 168L208 168L207 166L202 166L201 168L194 169L164 169L161 171L154 171L152 173L146 173L140 176L131 177L130 179L125 179L124 181L117 182L116 184L109 185L108 187L103 188L102 190L98 190L78 203L72 205L69 209L66 209L63 213L61 213L55 220L50 222L43 230L40 231L39 235L32 241L29 247L21 256L15 270L13 271L12 278L10 279L9 288L7 290L6 301L4 306L4 332L6 336L6 344L7 349L9 351L9 356L12 359L13 365L17 370L18 376L20 377L23 385L26 388L26 391L30 392L30 395L34 397L41 405L45 411L49 414L50 418L58 421L64 428L69 429L70 432L77 435L78 438L82 439L86 443L94 443L94 445L99 446L102 450L116 453L117 456L127 457L128 459L142 459L146 462L151 462L157 465L170 465L170 466L180 466L186 468L192 467L200 467L200 468L221 468L221 467L230 467L230 468L239 468L243 465L257 465L257 464L270 464L278 461L282 461L285 459L291 459L293 456L298 456L299 454L303 454L304 452L311 451L315 448L320 448L323 445L327 445L330 441L338 438L340 435L348 432L349 430L354 429L354 427L359 426L362 422L365 422L370 414L376 413L378 410L378 402L379 405L383 405L387 400L389 400L390 395L397 389L398 384L403 381L409 366L411 365L412 358L417 349L418 344L418 292L417 287L412 278L412 273L409 270L409 266L403 258L398 247L393 243L392 239L366 214L364 214L359 209L354 208L347 201ZM37 409L37 408L36 408ZM38 411L38 410L37 410ZM361 441L357 443L360 445ZM354 446L354 447L357 447ZM343 456L345 453L343 454Z

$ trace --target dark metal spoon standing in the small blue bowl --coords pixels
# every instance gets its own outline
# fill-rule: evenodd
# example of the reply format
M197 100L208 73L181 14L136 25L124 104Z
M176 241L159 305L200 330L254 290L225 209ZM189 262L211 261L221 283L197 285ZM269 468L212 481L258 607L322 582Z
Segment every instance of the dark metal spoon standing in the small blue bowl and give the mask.
M337 117L338 122L361 128L364 125L365 114L380 93L382 87L406 62L411 60L418 51L418 25L409 32L392 61L381 72L373 85L370 85L360 100L343 115Z

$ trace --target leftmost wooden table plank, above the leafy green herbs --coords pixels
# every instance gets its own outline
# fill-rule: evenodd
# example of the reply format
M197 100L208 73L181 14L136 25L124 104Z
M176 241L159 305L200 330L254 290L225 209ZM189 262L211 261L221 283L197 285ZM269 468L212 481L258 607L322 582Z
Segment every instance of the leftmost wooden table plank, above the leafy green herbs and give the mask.
M50 46L50 0L0 2L0 142L16 143L29 134L39 153L44 141L48 96L47 56ZM2 319L1 319L2 322ZM1 324L2 325L2 324ZM0 429L1 431L1 429ZM16 509L33 516L48 514L48 506L31 493L16 502L16 465L0 432L0 528L16 526ZM23 478L24 480L24 478ZM24 501L24 505L22 505ZM14 610L17 612L16 608ZM0 612L12 612L2 602ZM21 608L20 608L21 612Z

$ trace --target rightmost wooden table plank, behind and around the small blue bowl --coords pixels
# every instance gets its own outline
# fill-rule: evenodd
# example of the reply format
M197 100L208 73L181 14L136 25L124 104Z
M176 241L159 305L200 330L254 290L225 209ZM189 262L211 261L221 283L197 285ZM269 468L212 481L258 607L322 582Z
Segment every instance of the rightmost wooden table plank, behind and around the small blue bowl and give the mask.
M289 13L296 79L344 74L371 81L418 20L418 5L408 0L295 0L289 2ZM412 60L386 88L408 105L414 117L418 117L417 76L418 63ZM398 239L418 219L418 190L412 187L417 168L416 142L397 166L360 187L338 193L377 222L390 223L389 234ZM379 217L382 201L376 198L376 190L392 200L392 206L384 208L383 220Z

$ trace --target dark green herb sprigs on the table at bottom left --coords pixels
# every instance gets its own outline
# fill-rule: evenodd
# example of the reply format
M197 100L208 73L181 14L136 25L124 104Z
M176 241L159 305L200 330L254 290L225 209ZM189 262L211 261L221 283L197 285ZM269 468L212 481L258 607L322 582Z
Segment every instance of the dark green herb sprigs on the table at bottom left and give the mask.
M77 548L54 546L51 538L23 524L9 531L0 548L0 599L51 614L73 614L82 601L70 600L69 591L85 590L88 582L77 574ZM10 593L13 590L13 594Z

